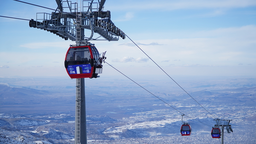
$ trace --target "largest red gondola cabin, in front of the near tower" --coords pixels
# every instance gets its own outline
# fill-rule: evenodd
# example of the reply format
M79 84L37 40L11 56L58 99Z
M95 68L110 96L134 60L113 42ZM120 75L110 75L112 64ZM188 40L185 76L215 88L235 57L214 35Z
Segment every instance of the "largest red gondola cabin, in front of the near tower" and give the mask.
M65 57L65 68L71 78L96 78L98 59L99 52L95 46L70 47Z

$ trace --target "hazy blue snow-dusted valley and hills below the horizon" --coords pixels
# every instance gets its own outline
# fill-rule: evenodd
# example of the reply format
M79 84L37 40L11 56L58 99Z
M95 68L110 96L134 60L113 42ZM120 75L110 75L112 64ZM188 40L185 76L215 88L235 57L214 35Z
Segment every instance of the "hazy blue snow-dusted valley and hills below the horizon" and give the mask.
M55 87L46 80L1 78L0 143L74 143L74 83ZM256 79L182 81L213 116L174 85L166 88L167 81L143 84L171 107L127 80L107 81L86 87L88 144L220 143L211 137L213 116L232 120L233 133L225 131L224 143L256 142ZM190 136L180 135L182 116L173 108L189 116L183 120L192 127Z

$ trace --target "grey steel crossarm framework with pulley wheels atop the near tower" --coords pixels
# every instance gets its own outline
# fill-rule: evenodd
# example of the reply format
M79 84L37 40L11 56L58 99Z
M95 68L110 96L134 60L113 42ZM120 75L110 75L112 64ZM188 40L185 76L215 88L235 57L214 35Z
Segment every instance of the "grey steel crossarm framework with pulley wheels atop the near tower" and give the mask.
M76 43L89 40L117 41L119 37L125 39L125 33L110 20L110 11L102 11L105 0L99 3L94 3L93 0L81 0L81 4L68 0L56 0L56 2L58 7L54 12L51 14L37 13L36 21L31 19L29 26L49 31L65 40L76 41ZM85 37L82 29L91 30L91 35ZM93 38L93 33L100 36Z

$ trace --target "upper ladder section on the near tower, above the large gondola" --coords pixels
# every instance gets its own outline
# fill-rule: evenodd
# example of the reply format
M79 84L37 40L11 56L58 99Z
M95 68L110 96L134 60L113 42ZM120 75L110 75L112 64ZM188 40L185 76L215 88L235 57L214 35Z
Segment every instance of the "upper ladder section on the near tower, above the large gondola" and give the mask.
M82 7L82 3L80 0L80 7L78 6L77 0L76 0L76 42L80 42L81 40L81 7Z

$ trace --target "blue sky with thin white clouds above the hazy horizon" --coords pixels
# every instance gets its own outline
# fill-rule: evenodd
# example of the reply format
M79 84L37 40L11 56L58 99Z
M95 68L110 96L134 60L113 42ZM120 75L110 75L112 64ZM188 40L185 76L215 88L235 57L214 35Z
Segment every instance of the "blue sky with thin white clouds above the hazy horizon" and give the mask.
M57 7L55 0L25 2ZM52 12L12 0L1 3L1 16L36 19L36 13ZM106 0L104 10L170 75L256 76L255 0ZM0 76L68 77L64 58L73 41L30 28L24 20L0 17L0 26ZM91 42L125 74L164 74L128 38ZM104 75L119 73L104 64Z

